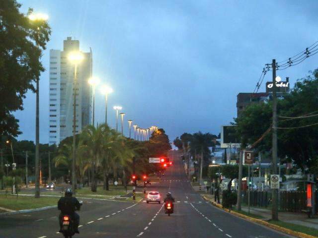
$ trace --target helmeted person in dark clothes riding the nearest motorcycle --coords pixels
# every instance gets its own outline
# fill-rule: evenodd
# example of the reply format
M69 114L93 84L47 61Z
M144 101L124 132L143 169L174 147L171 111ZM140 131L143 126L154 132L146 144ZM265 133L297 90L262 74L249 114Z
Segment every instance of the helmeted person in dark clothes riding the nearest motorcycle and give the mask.
M71 188L68 188L65 192L65 197L61 197L58 201L58 209L61 210L59 215L60 221L60 231L62 232L62 219L64 215L71 216L71 219L74 221L74 232L79 233L79 214L75 210L80 209L79 200L76 197L73 197L73 192Z

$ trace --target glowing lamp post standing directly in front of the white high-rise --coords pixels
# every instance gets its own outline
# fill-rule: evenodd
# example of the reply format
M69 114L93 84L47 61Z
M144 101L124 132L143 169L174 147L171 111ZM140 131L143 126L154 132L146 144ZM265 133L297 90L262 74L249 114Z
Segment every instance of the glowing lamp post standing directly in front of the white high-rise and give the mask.
M73 159L72 159L72 190L75 193L76 188L76 174L75 174L75 164L76 164L76 95L77 95L77 70L78 64L83 60L83 55L80 52L72 52L69 54L68 59L74 64L74 81L73 81Z

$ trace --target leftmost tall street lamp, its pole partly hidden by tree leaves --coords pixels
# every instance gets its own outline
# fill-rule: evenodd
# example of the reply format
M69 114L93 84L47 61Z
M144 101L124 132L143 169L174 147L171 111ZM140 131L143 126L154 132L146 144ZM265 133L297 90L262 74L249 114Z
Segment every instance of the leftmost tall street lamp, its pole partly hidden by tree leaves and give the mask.
M49 16L44 13L32 13L29 16L29 20L34 23L43 23L49 19ZM36 47L39 48L38 45L38 37L39 37L39 27L37 27L37 34L36 34ZM38 59L40 60L40 58ZM36 76L36 99L35 99L35 197L40 197L40 148L39 148L39 141L40 141L40 121L39 121L39 75Z

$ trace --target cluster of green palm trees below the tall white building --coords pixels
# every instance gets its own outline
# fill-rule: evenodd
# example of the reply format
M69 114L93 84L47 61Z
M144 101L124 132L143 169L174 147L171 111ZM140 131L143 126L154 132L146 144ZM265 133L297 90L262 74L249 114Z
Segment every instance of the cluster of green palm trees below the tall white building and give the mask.
M107 124L86 126L77 135L76 145L76 175L79 180L79 188L88 170L91 175L91 191L97 191L97 174L102 175L103 188L109 190L109 176L117 178L122 173L122 181L127 187L127 173L130 172L131 163L138 155L136 142L122 136ZM54 158L55 166L72 165L72 141L61 143L58 155Z

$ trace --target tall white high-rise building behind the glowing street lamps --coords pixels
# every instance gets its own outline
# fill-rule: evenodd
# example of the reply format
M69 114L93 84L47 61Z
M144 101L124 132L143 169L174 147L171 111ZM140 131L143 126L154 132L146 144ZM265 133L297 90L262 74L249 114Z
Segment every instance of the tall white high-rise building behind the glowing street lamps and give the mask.
M64 49L50 50L50 102L49 102L49 144L73 135L73 86L74 64L68 55L79 51L79 41L68 37ZM92 53L81 52L84 59L78 64L76 98L76 133L90 123L90 86L87 80L92 75Z

